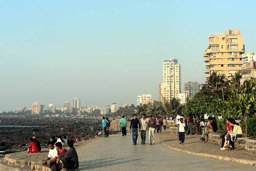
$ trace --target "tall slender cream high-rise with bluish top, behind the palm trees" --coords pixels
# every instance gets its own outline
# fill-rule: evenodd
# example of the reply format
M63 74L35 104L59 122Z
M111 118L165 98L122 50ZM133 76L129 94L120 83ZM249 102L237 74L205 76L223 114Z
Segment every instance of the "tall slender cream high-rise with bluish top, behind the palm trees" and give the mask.
M181 93L181 65L177 59L167 59L163 62L163 80L159 85L160 101L169 101Z

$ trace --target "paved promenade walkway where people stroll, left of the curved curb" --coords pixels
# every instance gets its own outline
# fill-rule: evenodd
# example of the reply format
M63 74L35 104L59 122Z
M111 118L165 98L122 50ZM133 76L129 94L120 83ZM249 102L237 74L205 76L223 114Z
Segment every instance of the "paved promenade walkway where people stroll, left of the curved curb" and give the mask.
M157 134L157 133L156 133ZM131 133L100 137L79 150L79 170L256 170L256 166L211 159L155 145L132 144Z

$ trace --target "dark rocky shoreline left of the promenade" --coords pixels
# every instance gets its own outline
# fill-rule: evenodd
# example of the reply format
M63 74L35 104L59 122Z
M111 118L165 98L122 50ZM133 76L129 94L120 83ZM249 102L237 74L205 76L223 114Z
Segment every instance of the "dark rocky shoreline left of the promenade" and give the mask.
M27 150L32 136L37 137L42 147L46 147L52 136L65 133L70 134L74 140L82 136L86 140L94 138L101 130L101 119L3 117L0 118L0 127L0 157L3 157L7 153Z

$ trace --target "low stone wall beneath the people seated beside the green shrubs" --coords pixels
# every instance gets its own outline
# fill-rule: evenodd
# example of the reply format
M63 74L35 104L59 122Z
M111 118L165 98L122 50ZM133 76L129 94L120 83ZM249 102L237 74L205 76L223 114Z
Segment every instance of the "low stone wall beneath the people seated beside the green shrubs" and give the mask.
M211 145L221 147L222 139L218 139L219 133L209 133L208 135L208 143ZM237 150L245 150L248 153L256 154L256 139L249 139L249 138L237 138L235 142L235 149Z

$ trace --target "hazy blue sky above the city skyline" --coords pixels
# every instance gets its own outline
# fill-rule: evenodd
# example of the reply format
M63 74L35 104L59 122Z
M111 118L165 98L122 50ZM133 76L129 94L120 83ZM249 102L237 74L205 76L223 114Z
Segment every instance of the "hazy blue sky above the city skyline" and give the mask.
M74 97L81 106L158 99L162 62L205 81L213 33L240 29L256 52L256 1L1 1L0 111Z

